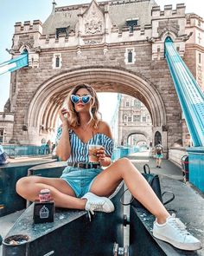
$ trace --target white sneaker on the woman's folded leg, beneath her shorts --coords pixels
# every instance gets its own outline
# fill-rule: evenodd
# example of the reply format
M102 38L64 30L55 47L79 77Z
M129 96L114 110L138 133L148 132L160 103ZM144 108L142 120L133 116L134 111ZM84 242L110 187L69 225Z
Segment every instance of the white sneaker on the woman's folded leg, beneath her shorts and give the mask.
M91 192L86 193L82 199L86 198L86 211L94 214L94 211L112 213L115 209L112 201L106 197L100 197Z

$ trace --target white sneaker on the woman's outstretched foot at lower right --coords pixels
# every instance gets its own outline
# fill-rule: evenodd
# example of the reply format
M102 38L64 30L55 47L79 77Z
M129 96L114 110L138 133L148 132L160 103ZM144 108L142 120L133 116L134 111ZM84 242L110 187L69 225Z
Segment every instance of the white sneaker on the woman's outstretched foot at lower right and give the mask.
M182 250L194 251L202 247L201 241L188 233L186 226L181 220L175 218L175 214L169 216L164 224L158 224L155 221L153 235L157 239L166 241L172 246Z

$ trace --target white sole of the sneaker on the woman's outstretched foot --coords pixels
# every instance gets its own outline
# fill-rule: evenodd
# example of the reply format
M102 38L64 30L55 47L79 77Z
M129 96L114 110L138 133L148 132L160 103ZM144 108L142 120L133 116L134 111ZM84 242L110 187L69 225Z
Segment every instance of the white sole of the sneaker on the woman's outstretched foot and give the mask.
M182 244L180 242L176 242L175 240L170 240L170 239L168 239L165 236L160 235L160 234L153 233L153 236L156 237L156 239L163 240L163 241L169 243L170 245L175 246L176 248L181 249L181 250L196 251L196 250L200 250L202 248L201 243Z

